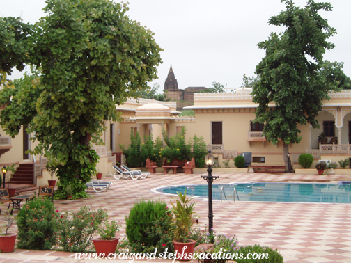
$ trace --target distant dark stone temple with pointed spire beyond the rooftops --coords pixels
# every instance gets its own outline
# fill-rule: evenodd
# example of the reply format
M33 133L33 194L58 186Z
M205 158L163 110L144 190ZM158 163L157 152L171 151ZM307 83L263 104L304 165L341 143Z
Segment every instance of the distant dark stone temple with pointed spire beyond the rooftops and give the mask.
M171 68L169 74L164 81L164 91L167 90L167 96L171 97L172 100L194 102L194 93L198 93L201 90L205 90L206 87L187 87L185 90L178 88L178 81L174 76L174 72Z

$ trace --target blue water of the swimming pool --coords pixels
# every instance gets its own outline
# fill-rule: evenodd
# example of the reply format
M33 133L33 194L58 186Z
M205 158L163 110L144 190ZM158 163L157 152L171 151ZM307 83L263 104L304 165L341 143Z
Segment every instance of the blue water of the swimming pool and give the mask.
M254 202L335 202L351 203L351 184L318 184L318 183L243 183L213 184L214 199ZM208 184L169 186L157 189L158 192L177 194L187 190L189 196L208 198ZM238 196L238 197L237 197Z

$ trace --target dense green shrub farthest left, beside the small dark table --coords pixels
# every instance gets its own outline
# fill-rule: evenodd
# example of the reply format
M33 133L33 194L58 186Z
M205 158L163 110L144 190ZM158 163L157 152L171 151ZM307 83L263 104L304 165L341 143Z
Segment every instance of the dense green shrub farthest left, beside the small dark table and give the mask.
M17 215L17 248L50 250L56 243L56 216L51 200L34 199Z

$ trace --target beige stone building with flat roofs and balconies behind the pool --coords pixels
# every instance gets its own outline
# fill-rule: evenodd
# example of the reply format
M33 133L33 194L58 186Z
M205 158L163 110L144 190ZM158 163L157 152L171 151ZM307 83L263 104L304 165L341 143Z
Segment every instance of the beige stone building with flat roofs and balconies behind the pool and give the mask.
M195 111L195 117L179 117L176 102L157 102L150 99L129 99L125 104L116 106L122 121L106 122L102 135L103 146L94 146L100 155L98 170L104 175L112 173L115 164L114 154L120 152L119 145L129 145L131 132L139 133L141 139L149 134L162 138L162 129L169 136L176 134L182 127L187 130L187 141L194 136L202 136L208 148L214 153L217 163L231 160L243 152L251 152L252 164L283 165L282 142L272 145L263 136L263 125L253 123L257 104L252 102L251 88L239 88L236 93L194 93L194 105L187 109ZM318 115L320 129L304 125L302 141L290 145L292 161L297 162L299 154L309 152L315 160L331 159L339 161L351 157L351 90L330 93L330 100L324 101ZM274 105L272 105L274 106ZM325 131L325 141L318 135ZM26 154L36 143L30 141L22 127L19 136L11 139L0 129L0 167L8 164L31 164L31 182L44 185L49 174L45 170L46 160L40 156ZM233 167L233 161L230 162Z

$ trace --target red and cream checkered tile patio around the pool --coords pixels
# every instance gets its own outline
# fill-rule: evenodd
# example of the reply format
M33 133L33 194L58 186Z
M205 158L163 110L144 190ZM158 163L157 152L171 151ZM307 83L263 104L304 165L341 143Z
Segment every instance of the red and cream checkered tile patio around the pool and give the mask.
M216 183L282 182L286 180L323 182L350 180L347 175L270 175L264 173L219 175ZM170 196L153 193L157 186L203 184L201 174L151 175L145 180L104 180L114 184L107 192L90 192L85 200L55 200L57 209L78 209L82 205L104 207L109 216L124 223L130 207L141 199L162 199ZM208 223L207 200L195 200L201 226ZM217 234L236 234L239 244L260 244L277 248L286 263L351 262L351 205L304 204L279 202L214 201L214 230ZM17 214L17 212L14 212ZM14 229L15 230L15 229ZM125 233L123 225L120 234ZM117 262L117 260L111 260ZM75 260L70 253L56 251L15 250L0 254L1 263L20 262L100 262ZM104 260L101 260L104 262ZM171 260L169 260L171 262Z

